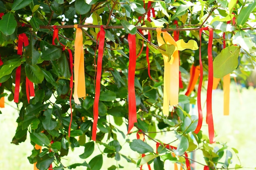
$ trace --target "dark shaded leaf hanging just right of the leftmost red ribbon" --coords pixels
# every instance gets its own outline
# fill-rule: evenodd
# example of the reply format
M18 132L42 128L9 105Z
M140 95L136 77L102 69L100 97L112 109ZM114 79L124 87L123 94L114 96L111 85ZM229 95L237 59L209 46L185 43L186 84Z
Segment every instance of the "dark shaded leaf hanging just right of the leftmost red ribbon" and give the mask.
M35 50L34 44L36 42L36 38L30 35L30 43L28 46L25 47L25 60L27 64L35 65L38 62L38 59L40 57L40 53Z

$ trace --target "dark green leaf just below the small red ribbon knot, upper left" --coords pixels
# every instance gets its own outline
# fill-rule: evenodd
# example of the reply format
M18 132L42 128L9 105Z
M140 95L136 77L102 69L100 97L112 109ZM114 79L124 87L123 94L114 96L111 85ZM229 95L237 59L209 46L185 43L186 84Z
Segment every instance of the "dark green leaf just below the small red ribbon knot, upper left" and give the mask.
M43 41L41 43L43 43L43 50L41 56L43 60L57 60L59 57L61 57L62 46L55 46Z

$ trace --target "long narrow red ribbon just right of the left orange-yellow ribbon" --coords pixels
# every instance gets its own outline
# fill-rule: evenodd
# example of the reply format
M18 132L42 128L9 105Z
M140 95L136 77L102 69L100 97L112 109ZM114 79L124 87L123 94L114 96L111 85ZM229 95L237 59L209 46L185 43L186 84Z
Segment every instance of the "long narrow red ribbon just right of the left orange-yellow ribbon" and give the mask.
M101 71L102 71L102 58L104 51L105 43L105 31L101 25L101 30L97 35L97 44L99 40L99 51L98 51L98 60L97 60L97 75L96 75L96 84L95 84L95 97L93 103L93 124L92 124L92 140L96 141L96 132L97 132L97 123L99 116L99 96L101 93ZM97 47L96 47L97 50ZM96 60L96 50L95 50L95 60ZM96 65L95 65L96 67Z

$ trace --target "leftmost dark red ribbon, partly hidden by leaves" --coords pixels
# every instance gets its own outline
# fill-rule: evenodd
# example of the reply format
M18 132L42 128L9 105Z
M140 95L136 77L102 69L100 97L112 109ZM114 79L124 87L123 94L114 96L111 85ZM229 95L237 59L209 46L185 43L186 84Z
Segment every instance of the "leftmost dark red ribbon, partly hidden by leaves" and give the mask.
M27 38L27 35L25 33L21 33L18 36L18 50L17 54L22 55L23 51L23 44L24 46L29 45L29 40ZM21 65L18 66L16 69L16 76L15 76L15 90L14 90L14 102L19 102L19 95L20 95L20 71L21 71Z

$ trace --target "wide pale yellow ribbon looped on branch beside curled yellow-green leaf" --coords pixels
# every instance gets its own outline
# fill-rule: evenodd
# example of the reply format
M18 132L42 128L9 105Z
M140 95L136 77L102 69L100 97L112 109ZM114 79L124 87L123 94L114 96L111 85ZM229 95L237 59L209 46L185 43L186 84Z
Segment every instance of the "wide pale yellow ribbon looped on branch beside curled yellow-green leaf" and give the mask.
M172 44L175 46L175 51L171 56L171 61L168 62L168 56L163 55L164 58L164 102L163 113L169 115L169 106L177 105L179 103L179 53L177 44L172 36L161 28L157 28L157 42L158 46L163 44ZM164 40L161 37L163 33Z

